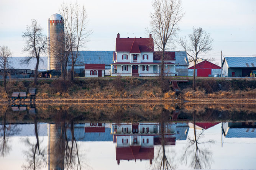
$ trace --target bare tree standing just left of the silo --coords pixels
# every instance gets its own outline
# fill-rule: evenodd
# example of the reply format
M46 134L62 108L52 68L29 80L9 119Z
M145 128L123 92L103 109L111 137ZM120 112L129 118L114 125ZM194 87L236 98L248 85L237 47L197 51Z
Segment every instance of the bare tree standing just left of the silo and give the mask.
M36 58L34 84L37 83L40 54L43 54L46 51L47 38L43 35L42 31L43 28L41 28L40 24L37 23L37 20L32 20L31 25L27 26L26 31L23 32L22 35L26 41L23 51L28 52L29 55L21 62L29 64L31 59Z

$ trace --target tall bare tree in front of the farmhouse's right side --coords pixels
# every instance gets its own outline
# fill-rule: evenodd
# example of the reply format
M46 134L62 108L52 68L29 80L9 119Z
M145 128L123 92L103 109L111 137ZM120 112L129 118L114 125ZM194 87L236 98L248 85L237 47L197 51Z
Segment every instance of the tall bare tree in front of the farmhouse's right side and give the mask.
M179 31L178 23L184 16L181 0L154 0L151 13L151 28L155 48L162 52L161 79L164 78L164 52L171 47L174 36Z

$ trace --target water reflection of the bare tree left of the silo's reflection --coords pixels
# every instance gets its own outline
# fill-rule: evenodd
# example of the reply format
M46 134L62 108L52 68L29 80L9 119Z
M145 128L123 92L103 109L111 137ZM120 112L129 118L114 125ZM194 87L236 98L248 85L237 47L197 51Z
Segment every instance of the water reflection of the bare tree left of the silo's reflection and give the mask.
M39 170L46 166L46 148L40 147L39 137L38 137L38 122L36 114L33 116L34 119L34 133L36 136L36 143L31 141L31 138L27 137L23 142L25 142L26 146L29 150L24 151L24 155L26 157L26 164L22 166L25 170Z

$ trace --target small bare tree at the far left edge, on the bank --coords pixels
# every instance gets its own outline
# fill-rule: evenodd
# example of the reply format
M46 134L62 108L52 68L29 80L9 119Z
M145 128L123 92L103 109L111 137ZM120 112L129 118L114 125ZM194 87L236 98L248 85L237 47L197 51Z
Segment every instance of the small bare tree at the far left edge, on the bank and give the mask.
M6 77L7 77L7 69L10 69L10 57L12 52L7 46L0 47L0 68L3 69L3 87L6 92Z

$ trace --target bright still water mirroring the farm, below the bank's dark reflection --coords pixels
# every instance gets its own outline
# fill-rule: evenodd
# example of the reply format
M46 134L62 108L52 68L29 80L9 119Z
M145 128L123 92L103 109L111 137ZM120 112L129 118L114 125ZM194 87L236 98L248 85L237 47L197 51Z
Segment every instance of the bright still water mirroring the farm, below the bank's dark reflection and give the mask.
M181 111L130 122L42 119L28 111L32 119L17 122L24 113L10 109L1 113L0 170L255 169L256 120L197 121L197 111L189 119Z

